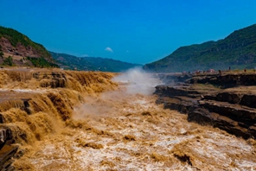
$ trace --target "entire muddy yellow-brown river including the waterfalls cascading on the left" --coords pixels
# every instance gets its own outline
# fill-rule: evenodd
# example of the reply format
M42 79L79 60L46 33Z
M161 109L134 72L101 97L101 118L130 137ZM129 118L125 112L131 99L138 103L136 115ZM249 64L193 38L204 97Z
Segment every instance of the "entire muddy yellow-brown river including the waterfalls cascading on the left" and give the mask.
M41 79L28 80L31 90L26 81L1 86L3 97L31 98L30 115L20 101L0 106L21 144L17 170L256 170L254 140L164 110L147 85L156 80L131 73L138 80L126 75L117 90L105 73L66 74L66 88L38 88Z

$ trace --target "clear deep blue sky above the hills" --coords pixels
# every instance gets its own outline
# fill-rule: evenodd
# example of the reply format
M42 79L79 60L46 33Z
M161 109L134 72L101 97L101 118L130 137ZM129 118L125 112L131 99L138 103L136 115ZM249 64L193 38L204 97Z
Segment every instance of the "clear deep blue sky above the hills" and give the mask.
M57 53L149 63L256 23L255 0L0 0L0 25Z

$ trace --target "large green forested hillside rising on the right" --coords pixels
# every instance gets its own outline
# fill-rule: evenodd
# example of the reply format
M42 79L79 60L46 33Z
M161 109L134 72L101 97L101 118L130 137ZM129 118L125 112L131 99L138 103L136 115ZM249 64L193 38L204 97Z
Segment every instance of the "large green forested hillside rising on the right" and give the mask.
M162 60L144 66L152 72L182 72L256 66L256 24L234 31L220 41L181 47Z

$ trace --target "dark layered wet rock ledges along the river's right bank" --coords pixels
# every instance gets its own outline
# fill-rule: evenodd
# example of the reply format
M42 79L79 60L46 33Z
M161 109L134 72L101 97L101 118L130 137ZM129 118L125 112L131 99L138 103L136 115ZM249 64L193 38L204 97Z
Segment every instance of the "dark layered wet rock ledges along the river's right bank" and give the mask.
M168 85L156 86L157 104L188 114L190 122L210 124L235 136L255 139L255 74L176 77L162 75Z

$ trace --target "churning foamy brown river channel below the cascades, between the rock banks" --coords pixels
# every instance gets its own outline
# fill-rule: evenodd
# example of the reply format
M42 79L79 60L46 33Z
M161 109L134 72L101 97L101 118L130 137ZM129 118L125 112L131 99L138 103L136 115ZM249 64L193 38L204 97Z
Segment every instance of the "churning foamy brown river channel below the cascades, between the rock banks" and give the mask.
M59 133L27 149L16 165L32 170L253 170L255 147L152 95L122 90L87 97Z

